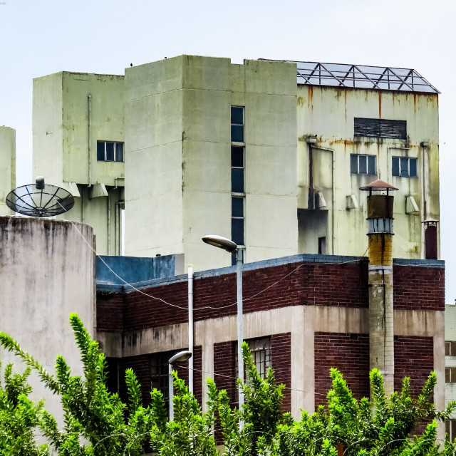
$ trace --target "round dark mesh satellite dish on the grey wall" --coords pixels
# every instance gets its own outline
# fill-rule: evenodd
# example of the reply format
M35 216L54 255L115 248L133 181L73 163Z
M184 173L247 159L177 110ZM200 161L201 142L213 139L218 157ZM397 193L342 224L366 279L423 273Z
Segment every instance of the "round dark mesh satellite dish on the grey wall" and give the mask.
M31 217L52 217L63 214L74 206L74 198L56 185L45 185L44 177L36 177L35 184L23 185L9 192L6 205L19 214Z

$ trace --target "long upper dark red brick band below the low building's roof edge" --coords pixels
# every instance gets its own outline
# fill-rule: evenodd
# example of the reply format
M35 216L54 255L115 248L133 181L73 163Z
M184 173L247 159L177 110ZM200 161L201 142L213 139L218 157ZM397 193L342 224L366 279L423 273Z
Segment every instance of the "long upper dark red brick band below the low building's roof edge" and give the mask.
M368 263L289 263L244 271L244 313L285 306L368 307ZM393 266L394 308L444 310L445 271L440 267ZM187 281L127 294L98 296L98 331L138 331L185 323ZM236 275L196 277L195 321L236 314Z

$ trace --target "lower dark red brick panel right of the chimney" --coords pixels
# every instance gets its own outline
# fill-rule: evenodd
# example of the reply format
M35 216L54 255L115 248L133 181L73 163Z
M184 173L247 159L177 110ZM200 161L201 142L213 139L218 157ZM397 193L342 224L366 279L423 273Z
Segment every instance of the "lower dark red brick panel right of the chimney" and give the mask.
M418 395L434 370L434 341L432 337L394 337L394 389L400 391L402 380L410 377L410 392Z

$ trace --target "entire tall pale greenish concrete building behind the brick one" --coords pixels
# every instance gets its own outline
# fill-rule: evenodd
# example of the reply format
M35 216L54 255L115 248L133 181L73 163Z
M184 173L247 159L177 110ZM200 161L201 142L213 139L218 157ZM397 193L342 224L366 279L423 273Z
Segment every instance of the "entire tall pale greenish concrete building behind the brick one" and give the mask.
M196 270L231 263L202 253L205 234L246 262L363 255L358 189L378 177L399 189L393 256L439 257L421 223L439 219L438 92L416 71L179 56L33 91L35 173L82 195L69 215L93 224L100 254L123 250L125 202L126 254L183 253Z

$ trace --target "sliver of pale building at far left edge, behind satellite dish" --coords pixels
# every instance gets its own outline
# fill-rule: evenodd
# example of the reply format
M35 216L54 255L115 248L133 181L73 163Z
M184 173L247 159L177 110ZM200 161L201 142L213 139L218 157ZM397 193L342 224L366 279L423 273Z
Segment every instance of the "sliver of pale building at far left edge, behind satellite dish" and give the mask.
M6 196L16 187L16 130L0 127L0 215L11 214Z

